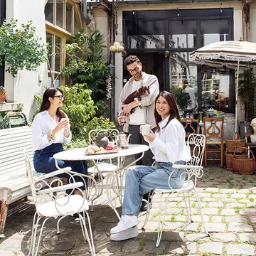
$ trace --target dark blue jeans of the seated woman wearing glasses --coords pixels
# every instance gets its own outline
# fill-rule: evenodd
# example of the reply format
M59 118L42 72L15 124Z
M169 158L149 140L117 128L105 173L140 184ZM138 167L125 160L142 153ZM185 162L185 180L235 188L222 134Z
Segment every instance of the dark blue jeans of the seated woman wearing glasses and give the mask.
M41 150L36 150L33 157L33 166L37 172L49 174L57 170L55 165L55 159L53 155L63 151L63 146L60 143L51 144ZM87 161L63 161L58 160L58 166L60 168L71 167L72 171L79 174L87 175ZM60 174L60 178L70 178L68 174ZM75 181L82 181L82 178L74 176ZM86 180L85 180L86 181Z

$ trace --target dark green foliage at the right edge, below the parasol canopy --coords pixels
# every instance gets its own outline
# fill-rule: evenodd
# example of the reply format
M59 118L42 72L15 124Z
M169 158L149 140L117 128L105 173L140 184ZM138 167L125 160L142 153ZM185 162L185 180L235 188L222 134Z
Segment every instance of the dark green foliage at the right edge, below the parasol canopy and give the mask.
M254 99L256 92L256 77L252 69L239 75L238 97L245 106L245 121L250 122L254 118Z

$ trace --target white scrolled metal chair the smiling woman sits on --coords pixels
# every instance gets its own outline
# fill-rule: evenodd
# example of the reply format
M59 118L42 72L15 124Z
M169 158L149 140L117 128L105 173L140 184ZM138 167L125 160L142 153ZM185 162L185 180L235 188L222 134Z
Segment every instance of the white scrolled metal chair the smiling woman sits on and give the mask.
M175 169L184 169L185 170L183 186L181 186L181 188L178 188L178 189L171 188L170 180L171 180L171 175L174 174L174 171L175 171L174 170L171 173L171 175L169 177L169 181L168 181L170 188L169 189L158 189L158 188L156 188L154 190L156 193L161 193L160 207L159 207L159 226L158 226L156 247L159 247L159 244L161 242L161 235L162 235L162 232L163 232L164 222L165 222L165 217L166 217L166 209L168 207L169 198L170 198L171 193L179 193L179 192L183 193L183 199L185 201L186 210L187 210L187 213L188 213L188 219L190 220L191 223L193 222L193 220L191 218L191 202L190 202L190 194L189 193L193 192L195 194L196 201L198 203L198 208L199 208L200 215L201 215L201 220L202 220L202 223L203 223L203 228L204 228L206 234L208 235L208 231L206 230L206 226L205 226L205 223L203 221L203 213L202 213L202 209L201 209L200 198L199 198L198 193L195 189L197 178L201 178L203 176L203 166L202 166L202 164L203 164L204 148L206 146L206 137L203 134L190 134L188 136L187 145L191 146L191 149L193 149L193 151L191 152L191 160L186 162L185 165L180 165L180 164L174 164L173 165L173 167ZM188 194L188 204L187 204L187 201L186 201L185 192ZM164 194L166 194L166 193L168 194L167 198L163 197ZM151 195L149 195L149 197L150 196ZM150 209L151 209L151 205L153 203L153 198L151 198L151 202L148 203L146 218L145 218L142 230L144 230L144 226L146 225L147 220L149 219L149 212L150 212ZM163 214L163 216L161 216L161 212L163 210L164 210L164 214Z

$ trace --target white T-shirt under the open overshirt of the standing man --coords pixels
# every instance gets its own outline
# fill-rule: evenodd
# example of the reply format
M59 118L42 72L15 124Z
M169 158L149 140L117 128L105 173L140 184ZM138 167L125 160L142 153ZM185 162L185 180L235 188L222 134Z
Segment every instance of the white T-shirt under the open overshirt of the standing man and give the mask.
M142 80L132 82L132 92L136 91L141 87ZM136 107L135 111L129 115L129 124L140 125L146 124L146 108Z

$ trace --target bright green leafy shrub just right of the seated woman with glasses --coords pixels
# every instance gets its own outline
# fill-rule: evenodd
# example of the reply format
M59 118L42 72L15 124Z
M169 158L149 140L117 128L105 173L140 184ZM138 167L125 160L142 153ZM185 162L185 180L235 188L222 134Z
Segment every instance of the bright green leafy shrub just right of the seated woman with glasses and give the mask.
M96 113L91 90L84 90L81 84L73 87L61 86L60 89L65 95L63 111L68 114L71 130L77 136L84 136L86 122Z

